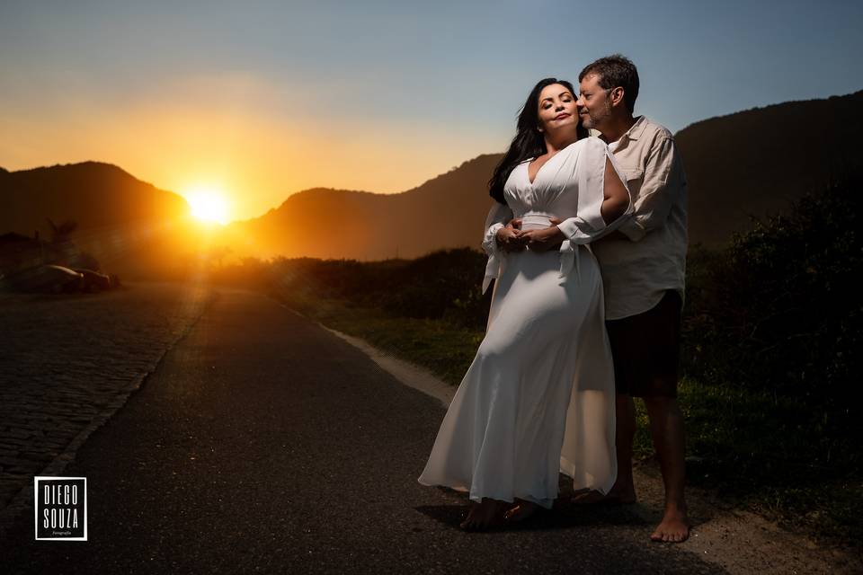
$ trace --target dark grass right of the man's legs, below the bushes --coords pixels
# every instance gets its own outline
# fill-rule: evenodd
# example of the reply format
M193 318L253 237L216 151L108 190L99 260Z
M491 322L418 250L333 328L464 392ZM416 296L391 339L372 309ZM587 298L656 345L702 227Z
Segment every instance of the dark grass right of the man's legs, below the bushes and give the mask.
M679 391L691 485L816 539L859 548L863 482L843 457L857 450L854 438L814 421L819 416L804 399L692 378ZM639 449L644 456L644 443Z

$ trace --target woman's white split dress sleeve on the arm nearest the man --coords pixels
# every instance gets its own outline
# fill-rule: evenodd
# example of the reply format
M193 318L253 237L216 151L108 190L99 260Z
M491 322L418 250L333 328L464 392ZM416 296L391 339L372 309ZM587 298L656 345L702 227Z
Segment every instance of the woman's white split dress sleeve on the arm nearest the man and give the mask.
M602 219L602 202L605 200L605 160L609 158L627 193L627 177L623 174L609 146L598 137L589 137L579 152L574 177L578 182L578 213L557 225L570 243L591 243L622 226L632 215L632 196L622 216L610 224Z

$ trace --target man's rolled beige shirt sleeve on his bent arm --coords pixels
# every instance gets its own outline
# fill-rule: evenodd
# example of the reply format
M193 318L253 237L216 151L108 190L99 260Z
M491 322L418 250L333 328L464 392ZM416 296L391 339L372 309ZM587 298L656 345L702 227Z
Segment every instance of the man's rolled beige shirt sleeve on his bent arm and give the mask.
M634 213L620 232L633 242L663 226L678 199L682 181L681 157L672 137L659 137L651 146L645 163L645 179L634 204Z

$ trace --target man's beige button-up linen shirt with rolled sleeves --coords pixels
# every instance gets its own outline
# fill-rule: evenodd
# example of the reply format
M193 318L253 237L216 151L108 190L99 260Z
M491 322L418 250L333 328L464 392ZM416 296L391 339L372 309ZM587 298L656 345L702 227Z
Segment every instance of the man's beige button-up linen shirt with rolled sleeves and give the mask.
M643 314L686 277L686 174L668 129L639 116L609 144L627 175L635 213L619 231L592 244L605 288L605 319Z

